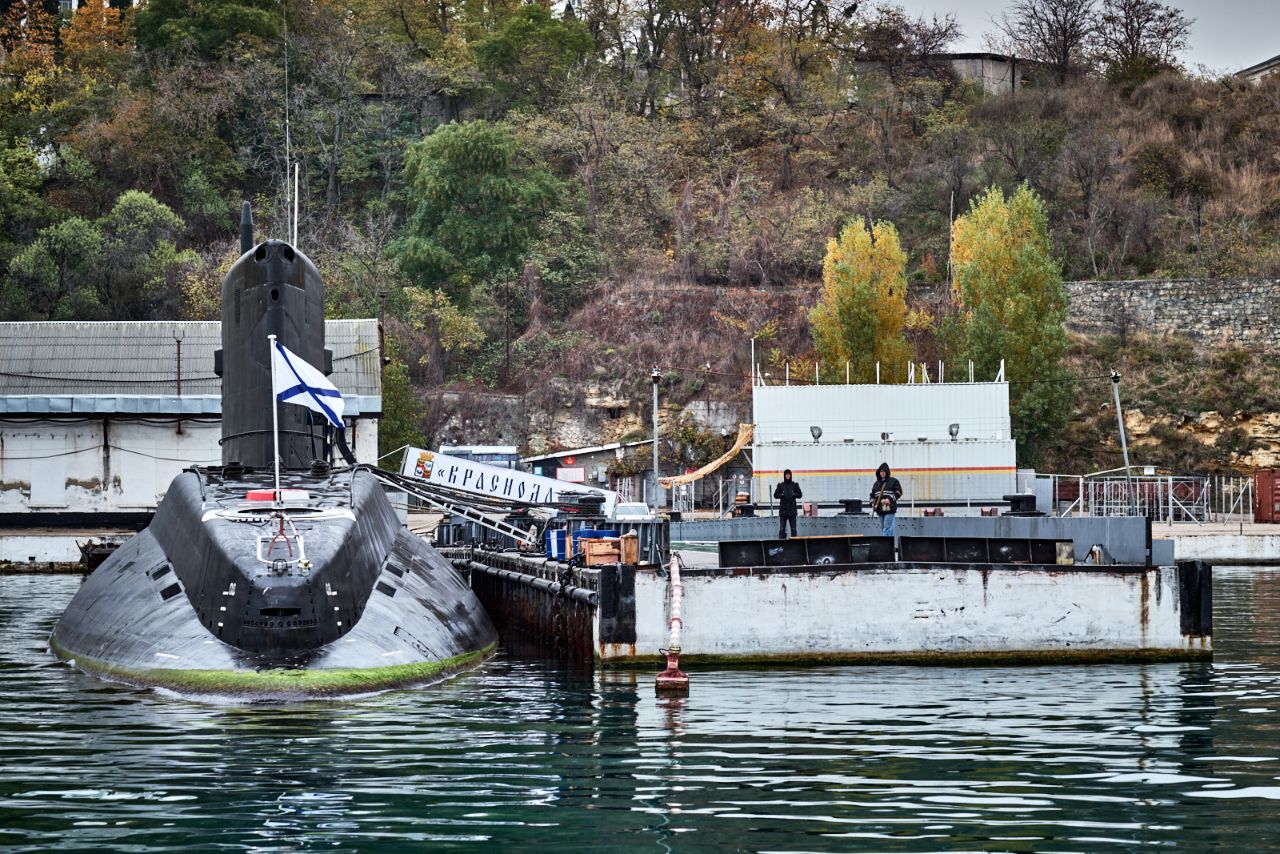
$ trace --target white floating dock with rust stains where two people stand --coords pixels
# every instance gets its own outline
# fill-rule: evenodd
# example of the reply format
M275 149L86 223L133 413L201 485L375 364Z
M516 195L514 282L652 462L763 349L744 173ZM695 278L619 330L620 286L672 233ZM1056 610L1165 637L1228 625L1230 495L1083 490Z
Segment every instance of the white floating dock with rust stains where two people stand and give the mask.
M1212 574L1175 563L1144 519L867 517L754 539L774 520L682 522L682 663L1192 661L1212 656ZM724 534L736 535L726 538ZM600 666L653 666L669 636L666 567L579 567L453 549L508 635ZM1155 560L1153 560L1155 558ZM1085 561L1101 561L1085 563Z

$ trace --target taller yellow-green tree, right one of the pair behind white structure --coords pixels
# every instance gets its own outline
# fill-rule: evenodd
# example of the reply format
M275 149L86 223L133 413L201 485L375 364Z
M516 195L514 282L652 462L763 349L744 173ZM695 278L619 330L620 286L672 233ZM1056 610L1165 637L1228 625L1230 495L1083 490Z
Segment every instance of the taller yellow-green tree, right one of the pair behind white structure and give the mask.
M1025 184L1009 198L992 187L956 219L952 246L964 357L983 376L1005 361L1018 456L1034 465L1071 410L1066 291L1044 204Z

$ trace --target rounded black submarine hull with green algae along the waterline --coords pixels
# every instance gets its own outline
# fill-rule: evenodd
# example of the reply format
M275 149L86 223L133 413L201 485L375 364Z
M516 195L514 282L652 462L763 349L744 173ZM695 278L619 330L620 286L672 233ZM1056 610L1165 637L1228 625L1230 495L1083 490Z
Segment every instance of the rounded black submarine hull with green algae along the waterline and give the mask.
M466 580L399 525L358 469L191 470L90 575L51 647L104 679L253 699L421 685L479 665L497 632ZM283 520L283 521L282 521Z

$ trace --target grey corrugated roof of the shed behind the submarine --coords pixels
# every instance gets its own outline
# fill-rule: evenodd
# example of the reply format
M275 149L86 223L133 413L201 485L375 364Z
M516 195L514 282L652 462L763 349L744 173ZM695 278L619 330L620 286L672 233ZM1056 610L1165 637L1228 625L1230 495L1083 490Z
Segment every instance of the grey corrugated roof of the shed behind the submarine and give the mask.
M216 320L0 323L0 396L216 394ZM376 320L326 320L333 383L344 396L381 398Z

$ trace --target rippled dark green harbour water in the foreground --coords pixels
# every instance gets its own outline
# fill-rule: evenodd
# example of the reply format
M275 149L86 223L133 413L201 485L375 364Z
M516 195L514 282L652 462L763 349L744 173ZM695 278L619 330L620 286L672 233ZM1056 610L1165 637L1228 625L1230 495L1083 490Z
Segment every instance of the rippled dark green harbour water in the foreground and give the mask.
M1213 665L566 671L212 705L55 662L72 577L0 579L0 848L1280 850L1280 571ZM692 615L690 618L696 618Z

